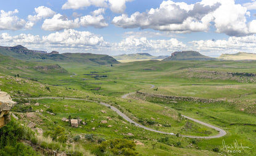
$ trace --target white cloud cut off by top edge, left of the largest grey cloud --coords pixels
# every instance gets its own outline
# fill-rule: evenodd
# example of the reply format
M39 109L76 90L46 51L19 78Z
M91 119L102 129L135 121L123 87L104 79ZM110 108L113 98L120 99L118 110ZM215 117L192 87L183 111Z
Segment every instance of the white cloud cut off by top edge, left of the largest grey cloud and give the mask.
M82 9L84 7L109 7L113 12L121 14L126 10L126 2L133 0L68 0L62 9Z

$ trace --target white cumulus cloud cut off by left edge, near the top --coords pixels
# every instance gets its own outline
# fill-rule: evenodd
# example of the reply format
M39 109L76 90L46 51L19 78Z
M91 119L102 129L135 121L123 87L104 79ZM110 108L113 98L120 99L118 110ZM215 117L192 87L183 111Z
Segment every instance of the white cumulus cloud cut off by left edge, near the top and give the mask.
M18 10L5 12L0 11L0 30L18 30L25 26L26 21L15 16L18 14Z

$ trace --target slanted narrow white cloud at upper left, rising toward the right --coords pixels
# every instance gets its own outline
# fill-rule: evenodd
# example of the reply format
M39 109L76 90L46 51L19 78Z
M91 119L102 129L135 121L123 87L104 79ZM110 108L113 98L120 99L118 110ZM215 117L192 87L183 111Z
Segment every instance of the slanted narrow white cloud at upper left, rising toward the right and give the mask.
M26 22L26 28L30 29L32 28L35 23L42 18L49 18L56 14L52 9L49 7L40 6L34 9L36 12L36 15L28 15L28 21Z

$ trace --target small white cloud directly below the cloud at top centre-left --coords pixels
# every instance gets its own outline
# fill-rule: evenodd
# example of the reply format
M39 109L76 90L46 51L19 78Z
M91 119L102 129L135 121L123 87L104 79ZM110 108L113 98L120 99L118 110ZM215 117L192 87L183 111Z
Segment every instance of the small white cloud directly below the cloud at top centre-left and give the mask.
M86 15L84 17L81 17L80 25L84 27L93 26L94 28L104 28L108 26L103 15L98 15L98 16Z

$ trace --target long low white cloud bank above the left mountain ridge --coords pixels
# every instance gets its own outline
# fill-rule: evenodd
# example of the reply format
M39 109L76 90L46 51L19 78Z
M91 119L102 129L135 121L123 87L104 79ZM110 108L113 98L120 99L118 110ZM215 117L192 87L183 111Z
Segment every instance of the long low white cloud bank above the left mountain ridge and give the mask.
M76 31L74 29L65 29L62 32L51 33L42 37L32 34L10 36L8 33L2 33L0 34L0 39L6 45L36 45L41 49L46 47L76 47L79 49L81 47L95 47L106 44L102 36L95 35L89 31Z

